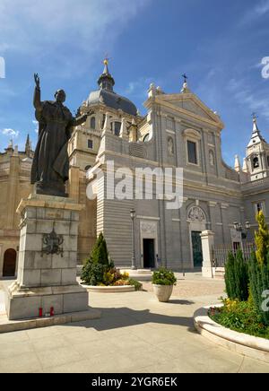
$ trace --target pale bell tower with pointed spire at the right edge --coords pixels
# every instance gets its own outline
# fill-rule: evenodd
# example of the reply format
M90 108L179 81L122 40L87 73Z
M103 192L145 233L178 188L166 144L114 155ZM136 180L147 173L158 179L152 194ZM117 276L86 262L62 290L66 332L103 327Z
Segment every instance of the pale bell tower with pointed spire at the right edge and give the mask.
M269 144L261 135L255 113L252 136L247 145L247 171L251 181L269 177Z

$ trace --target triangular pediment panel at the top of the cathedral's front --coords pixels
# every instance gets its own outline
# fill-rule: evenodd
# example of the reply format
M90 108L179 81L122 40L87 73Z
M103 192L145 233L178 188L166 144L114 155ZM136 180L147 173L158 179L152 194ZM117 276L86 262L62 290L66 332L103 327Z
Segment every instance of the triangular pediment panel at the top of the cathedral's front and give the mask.
M205 118L213 121L218 125L223 126L221 118L209 109L202 100L193 93L179 93L173 95L163 94L158 97L164 103L168 103L169 106L174 106L178 109L183 109L189 113L195 114L197 117Z

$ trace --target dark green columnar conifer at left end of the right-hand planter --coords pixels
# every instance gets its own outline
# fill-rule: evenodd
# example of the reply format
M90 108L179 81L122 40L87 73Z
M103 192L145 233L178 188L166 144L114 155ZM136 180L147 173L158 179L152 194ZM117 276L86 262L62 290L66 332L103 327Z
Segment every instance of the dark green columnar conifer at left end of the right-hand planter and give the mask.
M247 263L241 250L236 256L232 253L228 256L225 265L225 284L227 295L231 300L247 301L249 277Z

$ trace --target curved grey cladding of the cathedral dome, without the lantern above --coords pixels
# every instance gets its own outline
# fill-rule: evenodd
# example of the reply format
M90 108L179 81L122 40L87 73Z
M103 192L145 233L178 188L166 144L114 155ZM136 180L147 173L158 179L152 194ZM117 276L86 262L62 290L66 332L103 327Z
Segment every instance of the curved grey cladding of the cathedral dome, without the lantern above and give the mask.
M137 114L137 109L134 103L132 103L131 100L128 100L120 95L117 95L117 93L115 93L114 91L108 91L108 90L93 91L91 92L87 103L89 106L102 103L111 109L116 109L116 110L121 109L126 114L129 114L131 116L136 116Z

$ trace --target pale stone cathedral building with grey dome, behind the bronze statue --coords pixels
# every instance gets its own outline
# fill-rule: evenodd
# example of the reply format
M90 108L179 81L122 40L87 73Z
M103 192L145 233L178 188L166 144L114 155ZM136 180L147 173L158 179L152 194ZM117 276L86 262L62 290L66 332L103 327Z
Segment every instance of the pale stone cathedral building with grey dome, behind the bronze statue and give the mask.
M89 256L100 232L107 240L115 264L125 268L131 266L132 257L138 268L154 268L160 264L175 270L201 267L201 233L212 230L216 246L238 245L242 235L235 229L235 222L243 228L247 223L246 240L253 241L256 213L263 210L269 222L269 144L258 129L256 117L252 135L249 132L246 159L241 166L236 157L235 168L231 169L221 156L224 128L221 117L189 90L187 81L182 90L174 94L164 93L152 84L144 103L147 109L144 117L134 103L114 91L115 81L109 74L107 60L98 83L99 89L92 91L79 109L80 114L90 114L87 122L74 128L68 145L68 194L85 205L79 228L78 263ZM15 157L21 161L21 174L16 181L25 186L16 187L13 208L9 205L9 190L1 198L2 213L9 211L10 216L13 215L9 218L13 220L10 227L16 236L14 241L4 242L4 227L0 227L0 234L3 231L0 276L4 275L6 267L4 253L19 246L18 217L14 217L14 211L22 196L31 191L28 178L31 153L20 159L17 152ZM13 175L13 154L6 150L0 156L2 182L7 183ZM135 186L131 196L108 195L111 163L117 170L113 194L123 178L126 184L134 185L139 169L142 196L137 196ZM147 199L150 198L145 186L147 173L178 168L183 169L180 207L168 207L167 197L158 194L155 175L152 175L153 197ZM122 176L118 175L120 172ZM171 181L175 185L173 178ZM134 235L131 210L135 211ZM8 248L9 243L11 248Z

